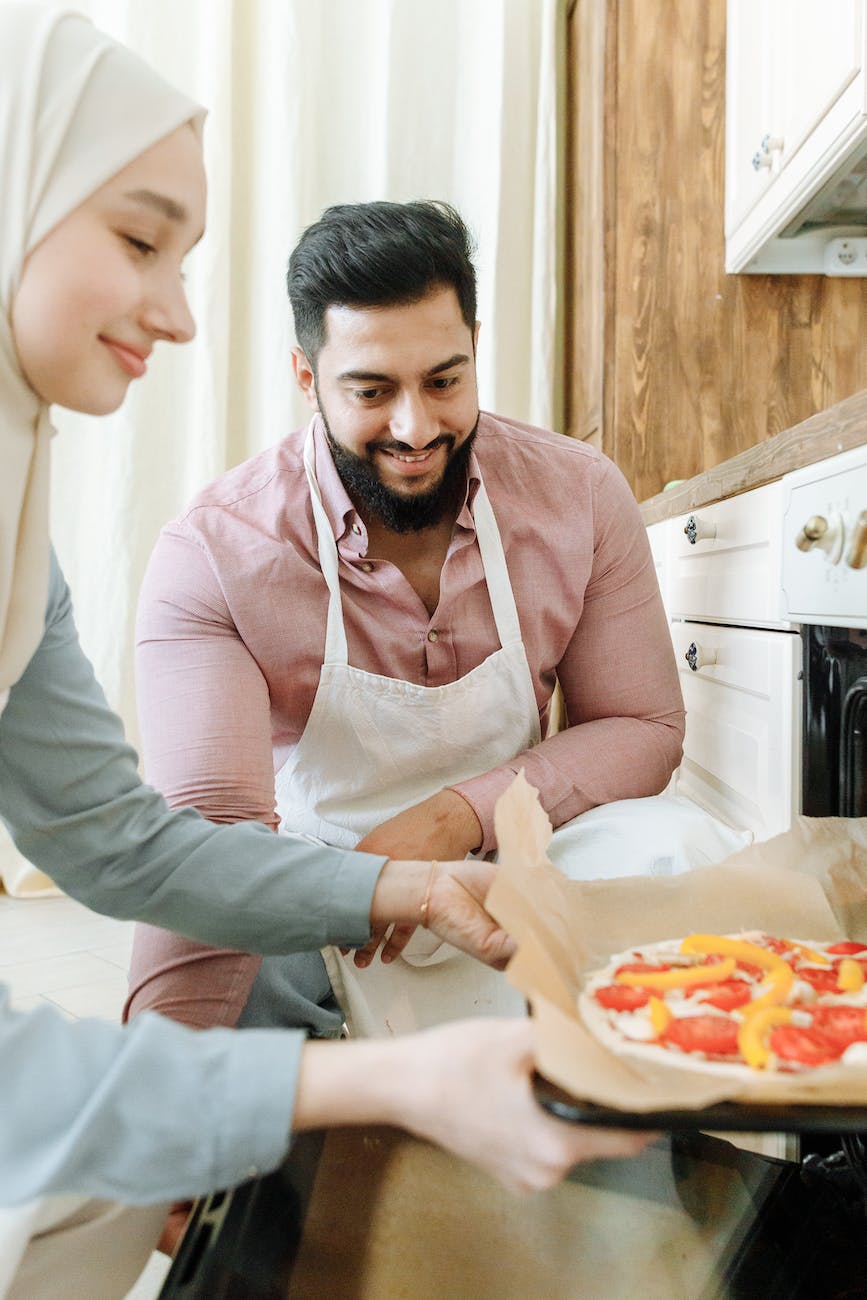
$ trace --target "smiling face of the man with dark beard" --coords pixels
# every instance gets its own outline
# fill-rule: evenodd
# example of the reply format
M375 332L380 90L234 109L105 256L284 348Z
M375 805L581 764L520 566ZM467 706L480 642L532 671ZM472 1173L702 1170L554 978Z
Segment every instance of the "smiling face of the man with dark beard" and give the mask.
M395 532L437 523L463 478L478 421L477 332L454 289L435 289L403 307L329 307L316 374L294 352L347 490Z

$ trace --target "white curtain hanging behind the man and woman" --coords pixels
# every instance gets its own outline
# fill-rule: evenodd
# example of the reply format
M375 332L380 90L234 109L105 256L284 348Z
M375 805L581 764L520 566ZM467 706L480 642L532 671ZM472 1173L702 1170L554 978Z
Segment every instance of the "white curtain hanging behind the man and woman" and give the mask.
M64 5L68 6L68 5ZM160 526L307 417L287 255L330 203L438 198L478 243L482 407L551 426L562 0L79 0L209 108L199 333L104 420L57 412L53 536L135 741L133 623Z

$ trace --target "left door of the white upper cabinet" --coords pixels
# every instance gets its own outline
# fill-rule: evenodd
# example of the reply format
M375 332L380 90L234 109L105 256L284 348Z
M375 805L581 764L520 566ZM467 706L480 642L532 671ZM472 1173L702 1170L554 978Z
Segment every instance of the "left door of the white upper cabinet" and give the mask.
M773 91L780 0L728 0L725 10L725 234L741 224L771 182L753 159L776 135ZM773 159L768 156L768 164Z

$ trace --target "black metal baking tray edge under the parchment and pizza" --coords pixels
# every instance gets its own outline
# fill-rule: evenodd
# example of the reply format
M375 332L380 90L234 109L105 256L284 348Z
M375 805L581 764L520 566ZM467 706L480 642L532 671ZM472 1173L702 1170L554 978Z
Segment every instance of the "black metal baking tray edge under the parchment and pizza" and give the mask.
M536 1100L545 1110L576 1124L602 1128L653 1128L664 1132L823 1132L867 1134L867 1098L863 1106L783 1105L721 1101L702 1110L616 1110L581 1101L537 1074Z

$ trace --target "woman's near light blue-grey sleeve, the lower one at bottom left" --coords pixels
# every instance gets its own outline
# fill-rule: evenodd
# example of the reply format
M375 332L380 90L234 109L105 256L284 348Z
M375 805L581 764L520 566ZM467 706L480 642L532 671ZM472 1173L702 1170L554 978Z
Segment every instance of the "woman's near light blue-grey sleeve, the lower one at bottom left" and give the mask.
M12 1011L0 985L0 1205L199 1196L276 1167L304 1036Z

